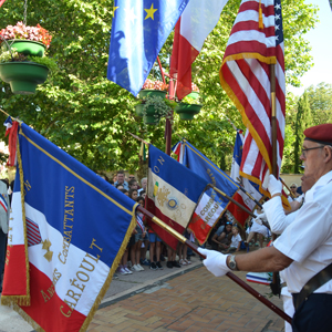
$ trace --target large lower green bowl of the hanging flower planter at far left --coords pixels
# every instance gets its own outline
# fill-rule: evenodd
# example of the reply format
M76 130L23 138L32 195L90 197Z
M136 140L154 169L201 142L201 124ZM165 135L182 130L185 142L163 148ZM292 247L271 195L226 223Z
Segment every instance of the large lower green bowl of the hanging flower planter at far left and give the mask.
M14 94L33 94L46 81L49 69L34 62L0 63L0 79L10 84Z

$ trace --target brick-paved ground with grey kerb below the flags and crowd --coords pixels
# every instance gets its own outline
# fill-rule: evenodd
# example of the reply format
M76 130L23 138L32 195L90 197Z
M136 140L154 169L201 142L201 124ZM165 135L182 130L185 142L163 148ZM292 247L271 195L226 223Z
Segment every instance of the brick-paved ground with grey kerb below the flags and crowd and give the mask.
M164 266L166 266L164 263ZM193 264L120 276L97 310L89 332L107 331L283 331L283 321L229 278L215 278L197 257ZM245 272L237 272L242 280ZM260 293L269 288L250 283ZM281 300L271 301L282 308ZM0 307L0 332L33 329L15 312Z

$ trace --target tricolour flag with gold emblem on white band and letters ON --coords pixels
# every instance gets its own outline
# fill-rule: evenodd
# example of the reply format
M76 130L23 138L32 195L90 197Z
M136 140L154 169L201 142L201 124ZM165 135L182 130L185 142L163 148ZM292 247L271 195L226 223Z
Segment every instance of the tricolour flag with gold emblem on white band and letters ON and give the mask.
M158 148L149 145L146 209L170 228L184 234L209 181ZM178 240L158 225L148 227L173 249Z

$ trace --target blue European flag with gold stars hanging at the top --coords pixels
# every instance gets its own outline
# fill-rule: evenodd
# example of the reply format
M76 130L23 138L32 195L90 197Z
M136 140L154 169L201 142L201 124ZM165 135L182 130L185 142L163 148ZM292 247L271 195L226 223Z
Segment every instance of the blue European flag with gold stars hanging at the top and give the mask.
M107 79L136 96L188 1L115 0Z

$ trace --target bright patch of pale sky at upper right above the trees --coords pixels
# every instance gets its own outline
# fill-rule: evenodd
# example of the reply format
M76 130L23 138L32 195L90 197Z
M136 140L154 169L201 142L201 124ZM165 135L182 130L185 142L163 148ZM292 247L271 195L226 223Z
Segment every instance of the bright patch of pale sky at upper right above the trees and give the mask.
M330 64L332 54L332 11L329 0L305 0L304 2L319 6L318 17L320 22L304 35L312 48L311 55L314 65L300 79L301 87L288 86L288 90L297 95L301 95L304 89L310 85L318 85L321 82L332 84L332 65Z

